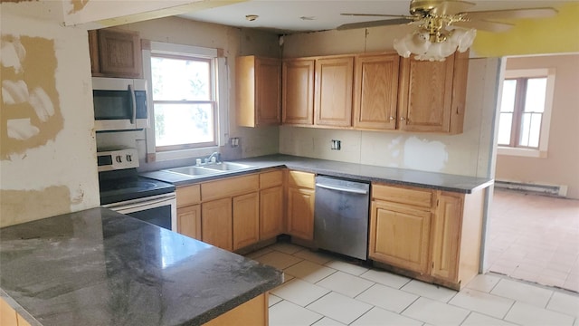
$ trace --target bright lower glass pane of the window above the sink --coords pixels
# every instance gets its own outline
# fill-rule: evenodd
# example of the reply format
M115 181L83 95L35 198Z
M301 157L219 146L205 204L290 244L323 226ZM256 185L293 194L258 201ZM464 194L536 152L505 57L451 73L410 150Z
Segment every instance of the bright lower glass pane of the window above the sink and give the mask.
M214 142L213 103L155 104L156 146Z

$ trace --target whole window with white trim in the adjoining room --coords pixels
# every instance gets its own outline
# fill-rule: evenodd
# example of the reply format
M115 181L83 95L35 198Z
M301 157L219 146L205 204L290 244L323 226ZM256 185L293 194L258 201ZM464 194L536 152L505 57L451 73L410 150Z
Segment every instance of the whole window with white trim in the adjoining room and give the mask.
M546 156L554 79L554 71L548 69L506 72L498 112L498 154Z

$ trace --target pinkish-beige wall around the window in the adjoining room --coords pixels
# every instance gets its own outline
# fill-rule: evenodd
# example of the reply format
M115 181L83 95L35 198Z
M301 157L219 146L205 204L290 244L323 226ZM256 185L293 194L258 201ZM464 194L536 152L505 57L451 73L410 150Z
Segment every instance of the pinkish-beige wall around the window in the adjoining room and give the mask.
M506 69L555 68L546 158L498 155L498 180L566 186L579 199L579 54L508 58Z

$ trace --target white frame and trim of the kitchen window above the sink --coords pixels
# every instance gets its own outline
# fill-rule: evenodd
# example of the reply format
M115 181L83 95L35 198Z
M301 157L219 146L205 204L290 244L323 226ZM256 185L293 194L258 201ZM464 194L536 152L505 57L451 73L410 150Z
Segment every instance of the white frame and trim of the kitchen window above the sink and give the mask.
M143 46L143 74L147 79L147 105L149 108L149 128L145 132L147 162L164 161L179 158L206 156L225 144L229 132L229 97L227 94L228 69L223 50L204 48L193 45L163 43L151 41L150 46ZM214 143L195 144L194 146L166 146L159 150L155 137L155 112L153 107L151 57L184 57L199 58L213 62L211 91L214 98ZM202 102L202 101L197 101Z

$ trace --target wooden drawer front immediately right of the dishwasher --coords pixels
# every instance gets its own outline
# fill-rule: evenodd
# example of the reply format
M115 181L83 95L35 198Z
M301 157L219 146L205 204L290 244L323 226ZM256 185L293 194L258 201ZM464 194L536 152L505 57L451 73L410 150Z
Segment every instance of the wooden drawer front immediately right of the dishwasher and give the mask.
M372 198L394 203L432 207L432 191L411 187L392 187L372 184Z

